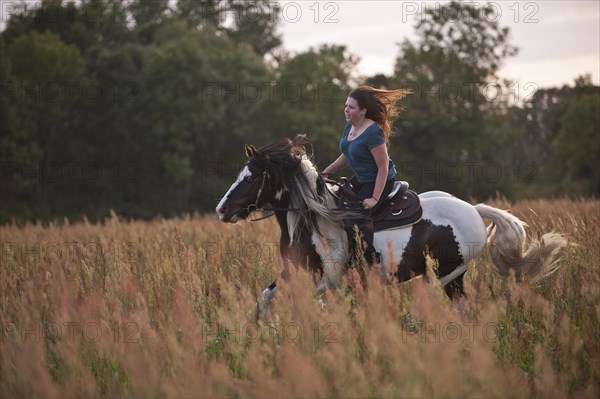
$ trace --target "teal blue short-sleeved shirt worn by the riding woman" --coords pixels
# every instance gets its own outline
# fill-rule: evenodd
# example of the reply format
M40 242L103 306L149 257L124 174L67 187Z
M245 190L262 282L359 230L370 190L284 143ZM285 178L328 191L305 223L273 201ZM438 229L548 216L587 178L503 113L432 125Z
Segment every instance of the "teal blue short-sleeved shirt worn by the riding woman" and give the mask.
M375 158L371 154L371 149L385 144L383 132L377 123L373 123L360 136L352 141L348 141L348 133L350 133L351 127L352 125L347 123L344 128L342 139L340 140L340 150L346 156L359 183L374 182L377 179L378 168ZM394 167L394 162L390 159L387 180L394 178L394 176L396 176L396 168Z

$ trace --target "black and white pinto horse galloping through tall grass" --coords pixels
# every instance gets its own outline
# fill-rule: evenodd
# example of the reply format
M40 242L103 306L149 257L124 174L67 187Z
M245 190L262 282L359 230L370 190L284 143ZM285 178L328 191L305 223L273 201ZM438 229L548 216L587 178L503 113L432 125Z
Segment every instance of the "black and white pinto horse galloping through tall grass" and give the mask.
M302 266L322 276L316 293L338 286L348 267L351 249L344 221L356 218L340 208L331 186L306 154L301 136L282 138L261 149L246 145L248 161L216 207L222 222L237 223L257 210L271 211L281 229L280 255L289 266ZM495 271L534 281L557 266L557 253L566 245L561 234L546 233L526 248L525 222L486 204L471 205L443 191L419 194L423 210L411 226L375 232L373 245L381 253L382 279L398 282L426 276L427 257L450 298L464 296L468 265L488 248ZM486 227L484 219L491 221ZM393 264L392 264L393 262ZM277 290L276 281L257 302L257 315L266 315Z

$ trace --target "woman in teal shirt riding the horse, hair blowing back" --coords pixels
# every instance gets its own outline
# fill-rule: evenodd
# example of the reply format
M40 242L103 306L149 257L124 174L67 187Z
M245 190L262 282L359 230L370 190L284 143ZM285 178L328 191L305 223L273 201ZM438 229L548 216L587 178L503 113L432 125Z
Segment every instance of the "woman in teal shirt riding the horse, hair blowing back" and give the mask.
M365 209L380 204L394 186L396 168L387 147L392 122L401 109L396 102L410 93L360 86L350 92L344 105L347 123L340 140L342 154L323 173L335 173L350 164L354 172L350 183ZM372 260L377 262L379 256L372 237L361 230L367 241L365 258L369 264ZM350 237L354 238L354 234Z

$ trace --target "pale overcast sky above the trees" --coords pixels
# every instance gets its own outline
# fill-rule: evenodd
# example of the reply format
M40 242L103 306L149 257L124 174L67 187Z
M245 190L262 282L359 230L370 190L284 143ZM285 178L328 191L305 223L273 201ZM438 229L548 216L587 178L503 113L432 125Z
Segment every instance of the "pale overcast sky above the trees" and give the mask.
M398 43L414 40L416 18L445 1L336 0L280 1L283 45L304 51L322 43L343 44L361 58L364 75L391 74ZM472 3L476 3L473 1ZM484 4L485 2L479 2ZM600 78L600 1L491 1L501 26L519 47L500 77L510 78L523 94L537 87L573 84L590 73Z

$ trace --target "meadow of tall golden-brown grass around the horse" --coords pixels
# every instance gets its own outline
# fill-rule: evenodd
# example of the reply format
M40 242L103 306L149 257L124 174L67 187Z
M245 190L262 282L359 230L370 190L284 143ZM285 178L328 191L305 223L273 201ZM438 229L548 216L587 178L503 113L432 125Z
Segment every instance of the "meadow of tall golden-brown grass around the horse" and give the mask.
M0 395L8 397L598 397L600 201L489 202L530 236L565 234L529 284L487 255L450 302L418 278L314 298L282 269L273 220L214 215L0 228Z

